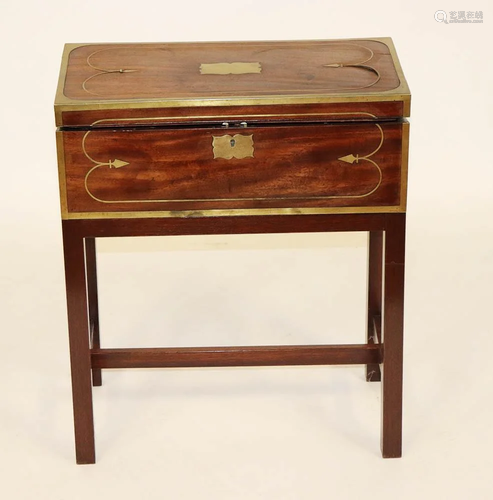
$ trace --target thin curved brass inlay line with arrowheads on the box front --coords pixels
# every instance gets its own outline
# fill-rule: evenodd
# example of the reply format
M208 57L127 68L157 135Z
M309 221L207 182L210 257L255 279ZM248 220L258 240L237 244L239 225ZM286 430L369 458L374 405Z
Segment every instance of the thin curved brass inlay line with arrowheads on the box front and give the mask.
M326 114L331 114L331 115L354 115L354 114L368 114L368 115L371 115L371 113L326 113ZM371 116L374 116L374 115L371 115ZM155 119L155 118L154 118ZM105 118L105 119L101 119L101 120L97 120L95 122L93 122L93 125L95 125L96 123L100 123L100 122L103 122L103 121L107 121L107 120L110 120L111 121L111 118ZM132 119L124 119L122 118L121 120L132 120ZM133 120L139 120L139 118L133 118ZM107 204L114 204L114 203L190 203L190 202L215 202L215 201L274 201L274 200L296 200L296 199L301 199L301 200L331 200L331 199L341 199L341 198L344 198L344 199L356 199L356 198L365 198L367 196L370 196L371 194L373 194L381 185L382 183L382 178L383 178L383 174L382 174L382 170L380 168L380 166L374 162L373 160L370 160L370 156L373 156L375 153L377 153L380 148L382 147L383 145L383 141L384 141L384 134L383 134L383 130L382 130L382 127L378 124L378 123L374 123L373 125L375 125L378 130L380 131L380 143L379 145L377 146L377 148L365 155L365 156L354 156L354 155L351 155L352 156L352 161L348 161L347 159L342 159L342 158L338 158L340 161L344 161L345 163L359 163L360 160L366 160L368 162L370 162L371 164L373 164L375 166L375 168L378 170L378 173L379 173L379 180L378 180L378 183L377 185L371 190L369 191L368 193L364 193L364 194L357 194L357 195L333 195L333 196L309 196L309 197L293 197L293 196L277 196L277 197L270 197L270 198L265 198L265 197L262 197L262 198L197 198L197 199L193 199L193 198L190 198L190 199L186 199L186 200L176 200L176 199L163 199L163 200L160 200L160 199L157 199L157 200L102 200L100 198L97 198L96 196L94 196L87 183L88 183L88 179L89 179L89 176L92 174L92 172L94 172L96 169L98 169L99 167L102 167L102 166L109 166L110 168L114 167L115 165L115 162L118 162L118 161L121 161L121 160L109 160L108 162L98 162L96 160L94 160L93 158L91 158L91 156L89 156L89 154L87 153L86 151L86 147L85 147L85 141L86 141L86 138L87 136L91 133L91 130L88 130L85 134L84 134L84 137L82 139L82 150L85 154L85 156L90 160L92 161L93 163L96 163L96 165L94 167L92 167L86 174L85 178L84 178L84 186L85 186L85 189L87 191L87 194L93 198L94 200L100 202L100 203L107 203ZM128 165L127 162L122 162L124 163L125 165Z

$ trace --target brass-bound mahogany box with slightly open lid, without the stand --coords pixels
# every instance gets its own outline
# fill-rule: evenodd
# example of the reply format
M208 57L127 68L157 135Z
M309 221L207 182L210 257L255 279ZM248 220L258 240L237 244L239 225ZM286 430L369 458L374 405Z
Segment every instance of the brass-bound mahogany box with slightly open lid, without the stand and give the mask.
M404 211L409 107L389 38L67 45L63 217Z

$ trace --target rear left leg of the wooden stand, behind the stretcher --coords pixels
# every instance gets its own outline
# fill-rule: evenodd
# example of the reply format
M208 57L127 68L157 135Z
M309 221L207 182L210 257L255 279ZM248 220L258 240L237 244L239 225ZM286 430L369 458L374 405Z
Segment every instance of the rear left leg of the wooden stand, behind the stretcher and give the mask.
M89 331L91 334L91 347L99 349L99 305L98 305L98 273L96 264L96 240L95 238L85 238L86 247L86 279L87 279L87 300L89 305ZM92 385L100 386L103 380L101 369L92 369Z

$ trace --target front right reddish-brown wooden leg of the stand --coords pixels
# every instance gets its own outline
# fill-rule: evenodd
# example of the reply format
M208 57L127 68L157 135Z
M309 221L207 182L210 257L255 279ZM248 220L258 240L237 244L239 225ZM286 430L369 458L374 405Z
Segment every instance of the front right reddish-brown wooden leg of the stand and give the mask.
M402 359L404 323L405 214L388 216L385 231L383 311L382 455L402 455Z

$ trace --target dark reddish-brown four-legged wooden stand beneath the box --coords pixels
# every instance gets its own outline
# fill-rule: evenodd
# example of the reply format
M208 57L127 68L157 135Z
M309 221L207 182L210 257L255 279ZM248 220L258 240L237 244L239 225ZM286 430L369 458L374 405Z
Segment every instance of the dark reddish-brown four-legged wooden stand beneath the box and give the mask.
M64 220L77 463L95 463L92 385L101 385L103 368L192 366L364 364L368 381L382 381L382 455L400 457L405 219L405 213L393 213ZM100 348L95 238L324 231L367 231L370 234L366 343Z

